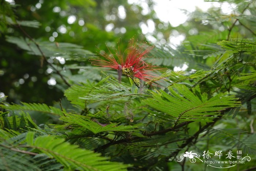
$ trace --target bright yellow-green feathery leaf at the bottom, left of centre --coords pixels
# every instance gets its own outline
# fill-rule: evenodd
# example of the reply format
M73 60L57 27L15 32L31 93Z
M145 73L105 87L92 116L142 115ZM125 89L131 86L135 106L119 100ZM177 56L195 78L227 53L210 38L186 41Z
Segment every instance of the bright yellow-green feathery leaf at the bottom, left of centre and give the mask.
M124 170L128 165L106 161L99 153L80 149L77 145L64 142L63 138L53 136L40 136L35 138L28 147L44 152L54 157L68 170Z

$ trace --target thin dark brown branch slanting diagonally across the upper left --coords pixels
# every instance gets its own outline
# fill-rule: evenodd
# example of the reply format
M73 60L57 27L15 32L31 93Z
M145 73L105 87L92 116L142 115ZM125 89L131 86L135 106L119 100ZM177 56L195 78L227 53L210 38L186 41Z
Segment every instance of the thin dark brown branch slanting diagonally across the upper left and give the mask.
M25 30L23 30L23 28L22 28L19 24L17 24L16 26L22 31L22 33L23 33L27 38L29 38L29 39L35 44L35 46L37 46L37 49L38 49L39 52L41 53L41 55L42 55L42 57L44 58L45 62L46 62L48 65L50 65L50 66L54 69L54 71L56 71L56 73L61 77L61 79L64 81L64 83L65 83L67 86L70 87L71 84L68 83L68 81L67 81L67 80L64 78L64 76L60 73L60 71L59 71L57 68L55 68L55 66L53 66L53 64L51 64L50 62L47 61L47 58L45 57L45 54L44 54L44 52L41 50L41 48L40 48L40 46L38 45L38 43L35 42L35 40L34 40L29 34L27 34L27 32L26 32Z

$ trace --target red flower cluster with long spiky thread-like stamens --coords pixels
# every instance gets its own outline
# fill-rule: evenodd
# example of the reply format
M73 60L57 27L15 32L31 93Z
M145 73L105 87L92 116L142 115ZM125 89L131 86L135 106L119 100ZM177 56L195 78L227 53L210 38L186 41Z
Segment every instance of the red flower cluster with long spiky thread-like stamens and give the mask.
M112 54L104 53L105 59L91 59L92 65L101 66L109 69L116 69L118 80L121 81L121 75L131 77L133 81L141 83L141 81L152 81L158 77L154 74L154 70L159 70L158 66L150 65L143 61L143 58L153 49L152 46L147 48L138 46L137 42L132 38L128 43L127 49L121 53L120 47L114 57ZM141 86L141 85L140 85Z

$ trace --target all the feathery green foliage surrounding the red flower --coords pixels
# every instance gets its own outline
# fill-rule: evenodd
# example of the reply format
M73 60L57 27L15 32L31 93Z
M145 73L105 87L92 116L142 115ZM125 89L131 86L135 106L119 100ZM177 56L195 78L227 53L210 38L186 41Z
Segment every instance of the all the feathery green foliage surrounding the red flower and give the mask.
M103 30L109 24L103 16L115 13L108 10L121 1L41 1L44 8L40 10L31 6L32 1L20 6L1 1L1 91L6 92L7 86L12 85L17 92L10 91L11 97L0 98L0 169L195 170L206 165L192 165L189 161L178 164L178 156L192 149L203 153L230 148L251 156L250 162L239 165L240 169L253 168L256 1L228 2L237 6L233 14L222 14L219 8L208 12L198 9L191 14L187 26L176 27L180 33L191 28L199 31L187 34L180 46L156 44L150 53L155 58L143 60L163 66L166 71L156 71L159 77L139 87L125 73L119 83L116 71L99 69L89 62L97 56L95 45L106 53L116 48L113 42L121 34ZM132 4L122 5L140 9ZM152 7L151 2L148 5ZM29 12L24 8L28 6ZM57 7L63 12L52 12L52 8L59 10ZM47 12L49 9L51 12ZM93 21L96 16L90 18L95 10L99 11L97 22ZM251 15L245 15L246 10ZM31 11L33 16L29 15ZM80 27L64 27L66 13L85 15L82 32ZM44 18L40 17L42 14ZM130 10L128 14L136 15ZM114 21L118 28L127 27L123 43L138 31L140 20L153 14L140 15L133 23L132 17ZM53 22L49 19L52 16L62 18ZM200 24L202 21L208 23ZM69 35L56 32L61 36L49 42L48 34L58 28L65 28ZM155 34L161 32L167 39L172 29L159 28ZM65 63L61 63L61 58ZM30 88L9 84L12 77L6 75L11 76L12 72L7 65L17 61L22 63L13 67L13 77L20 76L23 67L33 70L30 76L37 75L27 84ZM173 71L174 66L183 64L188 65L186 71ZM46 94L49 88L41 84L49 78L56 85L49 85L53 89ZM154 81L158 86L151 84ZM26 96L18 92L19 88ZM51 94L56 91L57 94ZM41 100L33 98L35 92ZM20 99L25 102L19 102ZM52 103L53 99L60 100Z

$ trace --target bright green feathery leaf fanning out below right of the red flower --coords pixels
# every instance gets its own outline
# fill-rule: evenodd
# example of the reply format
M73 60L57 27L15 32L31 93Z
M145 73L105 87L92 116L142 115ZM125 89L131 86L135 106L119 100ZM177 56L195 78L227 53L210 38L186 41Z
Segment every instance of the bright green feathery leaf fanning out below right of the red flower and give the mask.
M153 92L153 98L148 98L144 102L154 109L175 118L176 122L210 122L209 116L220 114L220 110L240 106L240 102L237 102L232 95L218 94L207 99L207 95L201 94L198 87L193 90L194 93L184 85L175 84L173 87L179 94L170 87L171 95L160 90L159 93Z

